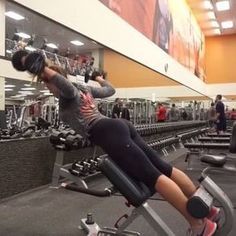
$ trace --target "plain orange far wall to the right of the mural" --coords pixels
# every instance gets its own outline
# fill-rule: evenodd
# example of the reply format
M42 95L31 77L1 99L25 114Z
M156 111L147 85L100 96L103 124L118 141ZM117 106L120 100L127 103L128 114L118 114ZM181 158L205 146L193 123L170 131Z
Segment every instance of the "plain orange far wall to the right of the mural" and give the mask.
M206 38L206 83L235 83L236 35ZM228 85L230 86L230 85Z

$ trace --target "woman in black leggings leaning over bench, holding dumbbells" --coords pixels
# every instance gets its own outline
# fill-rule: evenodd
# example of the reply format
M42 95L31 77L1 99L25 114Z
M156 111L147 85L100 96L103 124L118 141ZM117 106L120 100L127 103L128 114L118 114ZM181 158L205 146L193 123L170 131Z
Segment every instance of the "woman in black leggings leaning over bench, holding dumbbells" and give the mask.
M160 193L189 222L188 235L211 236L215 233L219 209L212 207L207 218L196 219L187 209L188 198L196 191L192 181L180 170L164 162L139 136L134 126L125 119L110 119L99 113L94 98L115 93L112 85L96 74L92 79L100 87L72 84L56 67L46 65L38 52L18 51L12 64L20 71L27 70L45 83L59 98L59 114L63 122L100 146L129 176L144 182Z

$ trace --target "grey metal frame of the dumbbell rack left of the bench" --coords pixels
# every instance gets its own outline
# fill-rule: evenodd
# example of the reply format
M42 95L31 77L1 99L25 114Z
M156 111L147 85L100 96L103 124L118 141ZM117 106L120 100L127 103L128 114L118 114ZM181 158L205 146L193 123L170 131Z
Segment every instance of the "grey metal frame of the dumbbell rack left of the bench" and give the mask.
M59 188L60 184L65 181L67 183L68 182L74 183L78 186L82 185L83 187L88 188L85 180L101 173L101 172L95 172L84 177L75 176L71 174L69 170L72 169L73 163L64 165L64 155L65 155L65 150L66 150L65 146L56 145L55 149L57 150L57 153L56 153L56 159L55 159L53 174L52 174L52 184L51 184L52 188Z

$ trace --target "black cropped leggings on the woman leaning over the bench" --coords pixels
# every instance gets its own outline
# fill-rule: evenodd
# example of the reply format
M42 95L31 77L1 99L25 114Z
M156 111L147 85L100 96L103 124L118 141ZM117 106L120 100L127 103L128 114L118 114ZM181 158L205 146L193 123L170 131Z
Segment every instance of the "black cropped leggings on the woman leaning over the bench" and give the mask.
M101 119L90 129L90 140L100 146L129 176L153 189L158 177L171 176L172 166L163 161L124 119Z

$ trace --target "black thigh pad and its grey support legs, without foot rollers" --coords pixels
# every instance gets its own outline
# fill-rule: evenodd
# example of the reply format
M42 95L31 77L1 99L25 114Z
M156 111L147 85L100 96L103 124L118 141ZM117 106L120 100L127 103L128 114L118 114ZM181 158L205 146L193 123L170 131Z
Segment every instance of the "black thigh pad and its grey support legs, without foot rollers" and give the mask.
M130 178L108 156L100 159L99 168L114 187L127 199L128 203L134 206L131 214L129 216L126 215L125 221L121 225L116 224L116 229L112 229L113 233L115 231L114 235L123 235L122 232L126 232L125 229L140 215L152 226L156 235L175 235L146 202L148 198L155 193L154 189L149 189L144 183L137 182ZM85 221L83 221L83 227L84 226ZM87 227L89 226L87 225ZM111 229L104 228L101 229L100 232L107 233L107 230Z

